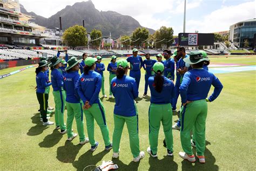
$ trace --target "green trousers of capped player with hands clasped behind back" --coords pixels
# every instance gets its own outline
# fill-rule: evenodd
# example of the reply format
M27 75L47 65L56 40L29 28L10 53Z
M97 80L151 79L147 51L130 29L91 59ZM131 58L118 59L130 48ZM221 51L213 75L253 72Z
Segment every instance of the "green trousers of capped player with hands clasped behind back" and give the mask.
M106 125L105 109L102 102L92 104L91 108L84 110L84 115L86 118L87 133L88 133L90 144L92 146L95 145L95 139L94 139L94 119L95 119L97 124L100 127L100 131L102 132L105 146L109 146L110 145L109 129L107 128L107 125Z

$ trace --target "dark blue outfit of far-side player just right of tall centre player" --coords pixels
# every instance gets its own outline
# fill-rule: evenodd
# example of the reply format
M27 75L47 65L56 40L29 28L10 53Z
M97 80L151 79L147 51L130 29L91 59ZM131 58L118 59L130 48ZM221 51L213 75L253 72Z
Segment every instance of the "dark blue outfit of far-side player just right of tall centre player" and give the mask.
M144 60L142 63L143 68L146 70L145 73L145 88L144 88L144 93L147 94L147 87L149 86L149 84L147 83L147 81L149 80L149 77L154 75L154 72L152 71L152 67L154 65L154 63L156 63L156 60Z

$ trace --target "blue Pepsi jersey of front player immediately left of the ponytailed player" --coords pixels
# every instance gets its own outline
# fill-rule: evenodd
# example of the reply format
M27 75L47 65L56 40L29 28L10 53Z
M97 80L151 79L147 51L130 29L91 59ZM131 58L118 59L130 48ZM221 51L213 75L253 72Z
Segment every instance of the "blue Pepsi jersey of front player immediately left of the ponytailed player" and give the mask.
M133 77L124 75L122 79L114 77L111 81L111 91L116 99L114 114L120 116L136 116L134 99L138 97L139 91Z

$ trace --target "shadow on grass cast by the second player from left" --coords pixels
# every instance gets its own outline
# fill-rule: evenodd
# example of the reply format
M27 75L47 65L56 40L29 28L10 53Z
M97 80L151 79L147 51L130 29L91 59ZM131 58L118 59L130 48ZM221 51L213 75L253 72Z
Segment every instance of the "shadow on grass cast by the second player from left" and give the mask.
M52 133L46 136L44 140L38 145L40 147L50 148L58 144L60 139L62 139L62 137L63 137L63 134L59 133L58 130L54 129Z

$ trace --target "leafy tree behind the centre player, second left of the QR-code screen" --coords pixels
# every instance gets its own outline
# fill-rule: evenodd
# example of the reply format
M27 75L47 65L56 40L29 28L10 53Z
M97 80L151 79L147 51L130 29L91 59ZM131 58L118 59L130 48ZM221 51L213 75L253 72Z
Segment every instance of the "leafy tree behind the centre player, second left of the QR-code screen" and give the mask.
M144 27L136 28L136 30L133 31L131 36L131 39L132 39L131 45L135 45L139 47L147 38L149 38L149 34L150 34L149 30L147 30Z

